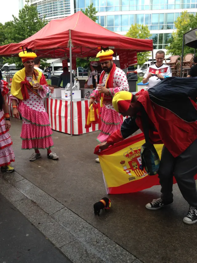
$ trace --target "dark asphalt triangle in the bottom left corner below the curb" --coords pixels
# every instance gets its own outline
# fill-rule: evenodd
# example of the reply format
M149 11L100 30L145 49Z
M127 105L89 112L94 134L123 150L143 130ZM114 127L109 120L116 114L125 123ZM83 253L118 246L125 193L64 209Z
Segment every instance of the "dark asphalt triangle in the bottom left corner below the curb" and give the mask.
M1 263L71 263L0 194Z

